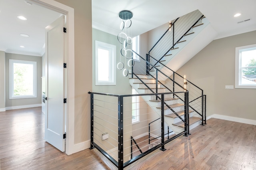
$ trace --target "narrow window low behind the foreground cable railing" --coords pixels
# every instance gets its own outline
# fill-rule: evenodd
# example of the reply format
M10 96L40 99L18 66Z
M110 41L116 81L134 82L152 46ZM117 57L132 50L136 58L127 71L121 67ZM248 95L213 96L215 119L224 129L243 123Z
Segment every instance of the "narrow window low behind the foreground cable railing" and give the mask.
M138 92L132 88L132 94L138 94ZM140 122L140 106L139 96L132 96L132 124Z

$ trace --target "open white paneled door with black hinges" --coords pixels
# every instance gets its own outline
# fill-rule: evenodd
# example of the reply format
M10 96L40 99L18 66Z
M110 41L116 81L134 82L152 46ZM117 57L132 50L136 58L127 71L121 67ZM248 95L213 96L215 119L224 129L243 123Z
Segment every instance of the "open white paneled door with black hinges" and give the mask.
M46 27L45 140L65 151L65 16Z

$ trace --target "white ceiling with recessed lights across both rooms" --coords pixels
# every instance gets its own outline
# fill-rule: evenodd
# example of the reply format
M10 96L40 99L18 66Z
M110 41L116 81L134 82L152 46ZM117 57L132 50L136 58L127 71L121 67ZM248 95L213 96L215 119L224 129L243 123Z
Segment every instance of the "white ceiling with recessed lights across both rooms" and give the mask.
M117 35L118 13L130 10L131 34L137 36L198 9L211 22L218 39L256 30L255 7L256 0L92 0L92 27ZM242 15L234 18L238 12ZM28 20L19 20L18 15ZM42 56L44 28L59 16L35 4L29 6L24 0L0 0L0 51ZM249 18L250 21L237 24Z

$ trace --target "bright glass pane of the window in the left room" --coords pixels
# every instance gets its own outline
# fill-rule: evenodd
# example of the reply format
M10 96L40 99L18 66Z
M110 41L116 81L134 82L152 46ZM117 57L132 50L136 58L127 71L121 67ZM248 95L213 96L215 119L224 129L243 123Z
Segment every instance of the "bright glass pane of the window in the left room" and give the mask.
M13 94L34 95L33 89L33 65L24 63L14 63L13 65Z

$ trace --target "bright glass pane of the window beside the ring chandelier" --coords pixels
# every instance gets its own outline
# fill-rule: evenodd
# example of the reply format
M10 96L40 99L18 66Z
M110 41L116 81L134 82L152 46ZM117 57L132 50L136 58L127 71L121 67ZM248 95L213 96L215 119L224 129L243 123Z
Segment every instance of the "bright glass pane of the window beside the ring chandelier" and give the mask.
M109 50L98 48L98 81L109 81Z

